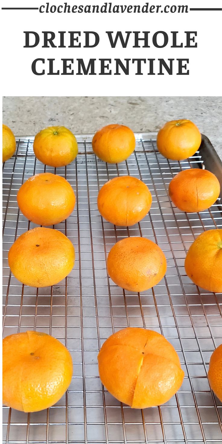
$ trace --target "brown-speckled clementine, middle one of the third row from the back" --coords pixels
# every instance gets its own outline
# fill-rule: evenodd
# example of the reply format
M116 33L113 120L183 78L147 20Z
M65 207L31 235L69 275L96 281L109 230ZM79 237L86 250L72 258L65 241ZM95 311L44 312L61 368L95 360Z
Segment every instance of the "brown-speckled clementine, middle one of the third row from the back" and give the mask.
M119 287L140 292L163 279L166 258L161 248L149 239L125 238L111 248L107 271Z

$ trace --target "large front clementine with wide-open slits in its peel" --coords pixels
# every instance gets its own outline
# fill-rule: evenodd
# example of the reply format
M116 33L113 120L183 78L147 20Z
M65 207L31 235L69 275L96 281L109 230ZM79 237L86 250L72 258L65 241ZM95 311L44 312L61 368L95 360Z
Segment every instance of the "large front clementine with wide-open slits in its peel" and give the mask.
M164 404L184 378L174 347L152 330L130 327L111 335L100 349L98 362L103 385L133 408Z

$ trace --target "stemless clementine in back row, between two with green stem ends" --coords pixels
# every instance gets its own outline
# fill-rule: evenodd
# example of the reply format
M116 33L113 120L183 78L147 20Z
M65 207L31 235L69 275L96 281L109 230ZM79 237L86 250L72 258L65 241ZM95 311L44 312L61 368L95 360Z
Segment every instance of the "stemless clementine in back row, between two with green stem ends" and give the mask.
M124 125L107 125L95 133L92 149L104 162L122 162L135 150L135 135Z

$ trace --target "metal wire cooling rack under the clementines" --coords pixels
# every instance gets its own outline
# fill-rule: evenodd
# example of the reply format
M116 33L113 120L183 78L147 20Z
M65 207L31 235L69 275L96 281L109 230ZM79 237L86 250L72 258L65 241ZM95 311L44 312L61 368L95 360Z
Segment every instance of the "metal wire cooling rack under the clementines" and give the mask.
M65 168L44 166L33 155L33 138L18 140L16 155L4 164L4 336L36 329L67 346L74 362L71 385L59 402L42 412L22 413L4 407L4 443L205 443L222 442L222 404L206 377L210 355L222 342L222 294L198 289L184 271L186 250L204 230L222 227L221 204L199 214L175 208L167 194L170 179L202 162L201 156L170 162L155 140L138 139L126 162L107 165L95 158L91 141L79 137L79 155ZM57 226L75 246L71 274L52 288L24 286L11 275L8 250L33 228L18 210L21 184L43 171L60 174L73 186L76 205ZM149 187L153 203L139 224L115 227L99 215L99 188L116 175L131 174ZM109 279L107 253L126 236L157 242L167 258L163 280L141 294L124 291ZM174 345L185 379L165 405L131 409L101 385L97 354L105 339L124 327L155 329ZM123 369L124 377L124 369Z

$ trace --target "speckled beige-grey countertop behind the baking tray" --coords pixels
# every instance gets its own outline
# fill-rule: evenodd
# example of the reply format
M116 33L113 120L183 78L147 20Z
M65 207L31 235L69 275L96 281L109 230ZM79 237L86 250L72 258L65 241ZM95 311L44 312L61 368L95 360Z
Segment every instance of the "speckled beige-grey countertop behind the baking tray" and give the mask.
M91 134L109 123L154 132L173 119L192 120L222 159L222 97L3 97L3 123L15 135L52 125Z

